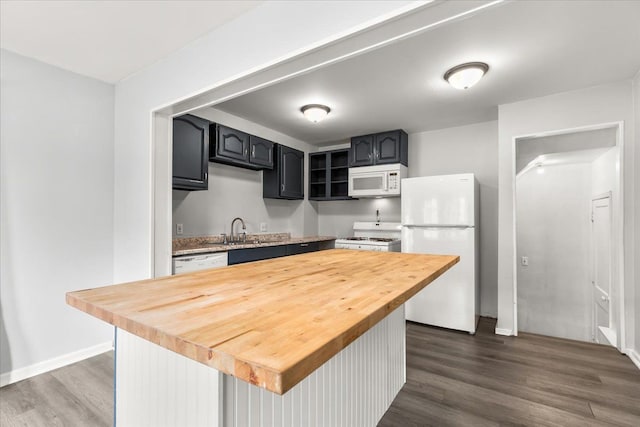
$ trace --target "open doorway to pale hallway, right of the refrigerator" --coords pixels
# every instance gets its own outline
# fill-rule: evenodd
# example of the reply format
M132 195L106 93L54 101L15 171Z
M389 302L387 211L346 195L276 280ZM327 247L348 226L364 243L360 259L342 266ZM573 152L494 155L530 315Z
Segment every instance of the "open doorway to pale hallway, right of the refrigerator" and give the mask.
M517 330L623 348L621 135L516 138Z

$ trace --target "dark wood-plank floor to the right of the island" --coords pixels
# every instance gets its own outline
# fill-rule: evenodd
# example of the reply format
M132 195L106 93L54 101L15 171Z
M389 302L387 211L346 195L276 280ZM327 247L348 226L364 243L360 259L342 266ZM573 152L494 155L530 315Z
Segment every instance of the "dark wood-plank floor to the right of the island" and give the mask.
M640 370L613 347L407 324L407 383L387 426L640 426Z

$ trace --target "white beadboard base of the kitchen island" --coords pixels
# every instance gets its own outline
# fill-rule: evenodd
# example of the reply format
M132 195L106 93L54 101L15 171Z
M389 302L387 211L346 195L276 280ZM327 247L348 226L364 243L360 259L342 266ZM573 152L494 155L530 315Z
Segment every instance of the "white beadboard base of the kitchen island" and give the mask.
M375 426L406 380L404 306L284 395L116 328L118 427Z

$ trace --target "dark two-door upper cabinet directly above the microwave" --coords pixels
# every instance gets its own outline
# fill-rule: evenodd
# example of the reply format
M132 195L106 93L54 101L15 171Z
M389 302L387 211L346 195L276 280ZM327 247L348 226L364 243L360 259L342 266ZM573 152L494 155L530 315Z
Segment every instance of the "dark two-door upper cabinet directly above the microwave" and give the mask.
M409 137L401 129L351 138L351 166L408 165Z

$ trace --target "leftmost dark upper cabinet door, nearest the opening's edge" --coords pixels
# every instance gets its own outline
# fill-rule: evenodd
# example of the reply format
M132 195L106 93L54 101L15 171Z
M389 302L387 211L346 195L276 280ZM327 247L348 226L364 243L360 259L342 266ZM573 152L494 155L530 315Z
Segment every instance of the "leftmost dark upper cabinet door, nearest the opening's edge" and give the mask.
M173 119L173 188L206 190L209 166L209 122L184 115Z

